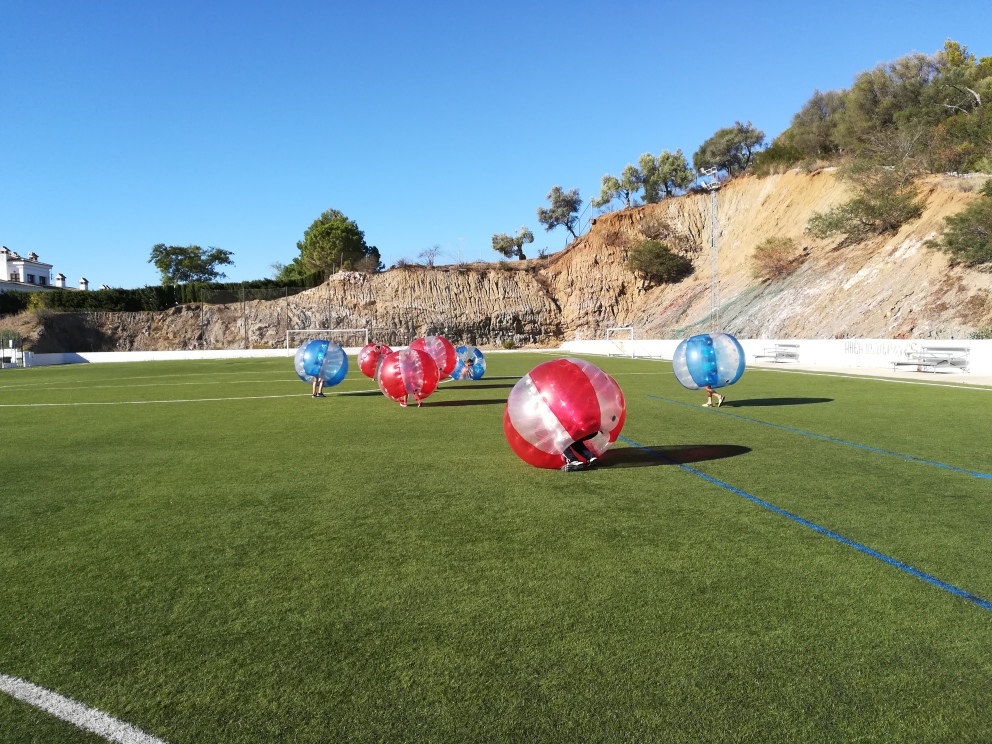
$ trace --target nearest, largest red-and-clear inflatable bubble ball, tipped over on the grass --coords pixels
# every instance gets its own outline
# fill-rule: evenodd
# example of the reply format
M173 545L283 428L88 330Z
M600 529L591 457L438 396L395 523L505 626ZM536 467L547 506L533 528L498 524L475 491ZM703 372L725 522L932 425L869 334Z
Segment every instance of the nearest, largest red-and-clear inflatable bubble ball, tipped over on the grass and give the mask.
M586 440L601 457L620 436L627 406L617 381L583 359L545 362L520 378L506 401L503 432L517 456L560 468L562 452Z

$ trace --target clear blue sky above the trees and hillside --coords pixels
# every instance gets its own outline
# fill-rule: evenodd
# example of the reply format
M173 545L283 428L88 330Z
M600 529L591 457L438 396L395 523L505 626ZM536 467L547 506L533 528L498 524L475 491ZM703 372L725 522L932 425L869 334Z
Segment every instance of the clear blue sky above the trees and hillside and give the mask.
M75 282L158 282L155 243L297 255L342 210L386 263L498 258L548 189L754 122L946 38L992 3L0 3L0 243ZM983 38L984 37L984 38ZM984 46L983 46L984 45Z

